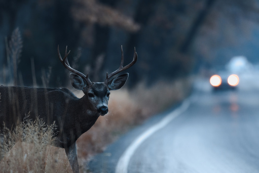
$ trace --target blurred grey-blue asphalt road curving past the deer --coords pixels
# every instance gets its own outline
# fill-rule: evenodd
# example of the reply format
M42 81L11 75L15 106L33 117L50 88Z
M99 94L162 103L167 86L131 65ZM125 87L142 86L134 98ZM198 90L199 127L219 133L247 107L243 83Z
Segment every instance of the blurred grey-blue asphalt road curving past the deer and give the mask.
M93 173L259 173L259 90L197 91L182 105L122 136L94 157L89 169Z

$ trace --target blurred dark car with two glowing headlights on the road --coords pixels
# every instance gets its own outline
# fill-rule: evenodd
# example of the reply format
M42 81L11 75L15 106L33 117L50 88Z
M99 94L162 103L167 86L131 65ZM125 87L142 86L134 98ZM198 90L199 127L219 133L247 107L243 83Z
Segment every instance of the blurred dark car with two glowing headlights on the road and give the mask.
M235 89L238 86L238 83L239 77L235 74L218 74L213 75L210 78L210 84L214 88L214 90Z

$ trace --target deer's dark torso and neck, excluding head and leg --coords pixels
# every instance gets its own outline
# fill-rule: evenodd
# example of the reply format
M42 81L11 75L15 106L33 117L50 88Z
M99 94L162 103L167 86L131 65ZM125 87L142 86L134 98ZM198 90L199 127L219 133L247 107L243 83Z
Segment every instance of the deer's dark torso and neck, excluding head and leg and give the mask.
M8 129L13 129L29 113L30 118L39 116L48 125L55 121L56 145L62 148L70 147L99 117L98 112L89 107L86 95L77 98L67 88L0 86L0 93L0 120Z

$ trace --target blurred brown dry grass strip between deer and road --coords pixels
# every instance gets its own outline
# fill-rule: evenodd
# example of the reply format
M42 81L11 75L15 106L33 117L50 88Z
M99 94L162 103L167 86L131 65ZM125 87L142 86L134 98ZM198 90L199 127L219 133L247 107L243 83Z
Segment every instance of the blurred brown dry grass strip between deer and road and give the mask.
M100 117L77 140L80 164L86 165L92 155L102 152L120 134L183 100L189 94L190 87L190 80L182 79L171 83L158 82L149 88L145 84L139 84L133 90L113 91L109 101L109 114Z

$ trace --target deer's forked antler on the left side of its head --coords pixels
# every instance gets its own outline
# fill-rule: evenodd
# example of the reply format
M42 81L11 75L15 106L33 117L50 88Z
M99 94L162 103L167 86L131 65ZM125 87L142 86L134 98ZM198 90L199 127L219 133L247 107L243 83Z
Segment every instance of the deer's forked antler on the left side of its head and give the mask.
M61 54L60 54L60 51L59 51L59 45L58 45L59 60L60 60L61 63L66 67L66 69L68 69L68 70L71 71L72 73L74 73L74 74L80 76L81 78L83 78L83 79L86 81L87 85L88 85L88 86L91 86L91 85L92 85L92 82L91 82L90 79L88 78L88 74L87 74L87 76L85 76L83 73L81 73L81 72L79 72L79 71L73 69L73 68L70 66L69 61L68 61L68 55L69 55L69 53L70 53L70 50L69 50L69 52L67 53L67 48L68 48L68 46L66 46L65 56L64 56L64 58L62 58L62 56L61 56Z

